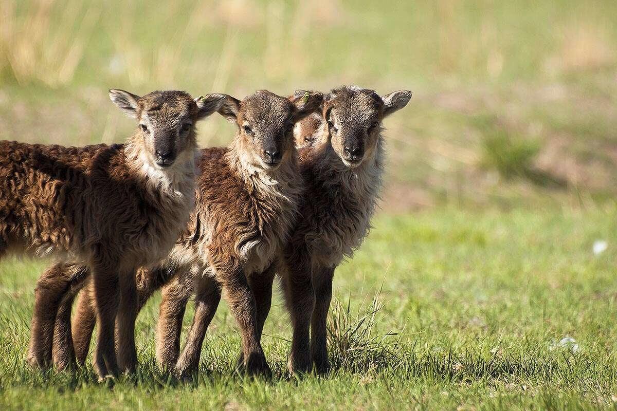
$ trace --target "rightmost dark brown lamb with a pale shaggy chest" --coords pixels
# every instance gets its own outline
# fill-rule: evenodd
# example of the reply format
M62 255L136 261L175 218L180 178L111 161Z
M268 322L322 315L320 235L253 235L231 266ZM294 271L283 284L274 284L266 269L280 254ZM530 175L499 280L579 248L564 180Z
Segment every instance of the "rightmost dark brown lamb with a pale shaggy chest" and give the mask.
M384 166L381 123L411 97L404 90L379 97L357 86L333 89L323 103L325 121L313 123L320 127L313 137L317 144L300 150L305 201L281 263L281 271L291 279L283 282L284 296L287 306L294 308L290 312L292 373L307 372L313 366L318 373L329 369L326 317L334 269L352 257L370 229ZM312 288L306 287L307 282ZM314 306L296 303L311 298ZM266 317L267 313L261 318ZM262 329L263 324L258 327Z

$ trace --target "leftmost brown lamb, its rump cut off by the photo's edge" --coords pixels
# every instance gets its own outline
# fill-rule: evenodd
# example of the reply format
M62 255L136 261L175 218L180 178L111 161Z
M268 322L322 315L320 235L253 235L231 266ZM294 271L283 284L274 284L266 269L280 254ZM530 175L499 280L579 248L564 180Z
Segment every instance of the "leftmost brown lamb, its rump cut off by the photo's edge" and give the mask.
M223 96L193 100L180 91L144 97L110 90L140 128L124 145L0 142L0 258L7 253L54 254L93 273L99 377L136 365L135 270L160 261L186 227L194 205L194 123ZM36 307L28 362L51 364L56 312ZM118 315L117 315L118 313ZM41 321L40 319L43 319ZM114 322L118 321L118 352ZM51 328L51 330L50 330Z

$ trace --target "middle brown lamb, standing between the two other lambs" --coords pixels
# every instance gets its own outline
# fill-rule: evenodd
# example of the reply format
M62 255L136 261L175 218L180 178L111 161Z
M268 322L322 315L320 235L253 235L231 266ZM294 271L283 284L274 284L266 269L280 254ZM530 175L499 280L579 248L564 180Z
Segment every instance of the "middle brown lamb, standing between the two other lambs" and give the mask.
M186 375L197 367L222 290L241 332L241 367L251 375L270 374L260 345L262 329L257 328L268 310L263 304L256 306L255 299L268 299L269 309L273 264L297 218L304 185L296 161L294 124L318 110L322 100L321 93L303 92L285 99L259 91L242 102L228 97L220 109L238 126L236 138L229 148L202 150L197 206L188 229L157 269L138 274L141 304L166 284L157 330L157 359L165 368ZM64 281L61 288L68 287L70 281ZM178 360L184 309L193 293L193 326ZM70 307L72 293L67 294L65 306ZM94 324L90 300L90 293L82 293L73 320L75 351L82 363ZM54 344L67 349L56 356L54 348L58 364L73 360L68 326L68 317L59 317Z

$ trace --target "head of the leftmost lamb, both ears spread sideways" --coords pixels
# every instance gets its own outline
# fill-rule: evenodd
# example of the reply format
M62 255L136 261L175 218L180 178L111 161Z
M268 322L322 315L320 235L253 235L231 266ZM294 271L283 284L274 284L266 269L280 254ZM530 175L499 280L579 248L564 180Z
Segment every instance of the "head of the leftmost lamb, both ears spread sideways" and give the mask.
M217 111L225 94L189 96L184 91L153 91L143 97L128 91L109 91L109 98L126 115L139 121L136 138L149 162L160 168L189 158L196 147L195 124Z

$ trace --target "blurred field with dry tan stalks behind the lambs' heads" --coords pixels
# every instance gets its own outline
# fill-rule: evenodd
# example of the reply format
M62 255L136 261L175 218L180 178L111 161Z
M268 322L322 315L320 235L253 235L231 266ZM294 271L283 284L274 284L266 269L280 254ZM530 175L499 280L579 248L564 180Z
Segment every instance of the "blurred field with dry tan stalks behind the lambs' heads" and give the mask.
M110 87L243 97L410 89L386 121L384 210L589 208L617 193L617 2L0 1L0 139L135 128ZM202 145L226 144L222 118Z

